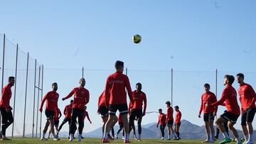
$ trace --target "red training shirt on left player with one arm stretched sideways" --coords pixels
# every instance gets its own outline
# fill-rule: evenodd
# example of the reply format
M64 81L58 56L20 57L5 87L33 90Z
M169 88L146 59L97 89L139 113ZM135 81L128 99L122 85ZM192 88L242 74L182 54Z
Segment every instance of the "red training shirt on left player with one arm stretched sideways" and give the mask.
M90 94L87 89L84 87L75 87L68 96L65 96L64 99L68 99L74 94L74 102L73 102L73 108L75 109L84 109L85 105L90 100Z

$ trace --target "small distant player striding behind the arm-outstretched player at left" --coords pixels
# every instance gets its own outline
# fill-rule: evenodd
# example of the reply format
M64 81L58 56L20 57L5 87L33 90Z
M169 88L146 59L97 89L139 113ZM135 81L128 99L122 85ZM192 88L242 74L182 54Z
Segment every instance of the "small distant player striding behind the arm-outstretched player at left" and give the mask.
M65 109L63 111L65 118L64 118L63 122L60 124L60 127L58 128L57 135L65 123L68 122L68 126L69 126L68 128L70 128L73 102L74 102L74 100L70 100L70 104L65 106ZM70 133L68 133L68 135L70 135Z

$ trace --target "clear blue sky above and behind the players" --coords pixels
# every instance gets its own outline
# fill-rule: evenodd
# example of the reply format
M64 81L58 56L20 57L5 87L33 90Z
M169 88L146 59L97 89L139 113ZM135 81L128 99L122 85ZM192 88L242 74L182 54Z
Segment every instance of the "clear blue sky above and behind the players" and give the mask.
M226 73L244 72L246 81L256 86L255 1L0 4L0 33L6 33L12 43L43 63L45 92L50 91L52 82L58 82L60 97L65 96L78 86L80 69L85 67L93 123L85 126L85 132L101 126L97 97L116 60L123 60L128 67L132 89L142 82L149 111L165 107L171 91L170 70L174 68L174 105L181 107L183 118L198 125L203 125L197 118L203 84L209 82L215 92L215 69L220 71L218 98ZM142 43L132 43L134 34L142 35ZM234 86L238 88L238 84ZM67 103L59 101L60 108ZM149 114L143 123L156 121L156 116Z

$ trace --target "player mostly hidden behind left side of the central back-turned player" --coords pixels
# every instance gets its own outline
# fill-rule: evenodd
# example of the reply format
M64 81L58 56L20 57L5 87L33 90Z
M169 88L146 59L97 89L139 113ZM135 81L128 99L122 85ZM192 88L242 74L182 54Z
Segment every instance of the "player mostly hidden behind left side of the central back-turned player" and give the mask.
M107 100L109 101L109 100ZM103 126L102 126L102 138L103 138L103 135L104 135L104 131L105 131L105 126L106 126L106 123L107 123L107 119L108 119L108 109L106 107L106 104L105 104L105 91L102 92L102 94L100 94L100 97L98 99L98 110L97 110L97 113L99 113L102 117L102 122L103 122ZM110 133L108 134L108 139L109 140L114 140L114 125L115 123L117 123L117 116L114 117L113 121L112 121L112 124L111 124L111 132L112 132L112 136L110 135Z

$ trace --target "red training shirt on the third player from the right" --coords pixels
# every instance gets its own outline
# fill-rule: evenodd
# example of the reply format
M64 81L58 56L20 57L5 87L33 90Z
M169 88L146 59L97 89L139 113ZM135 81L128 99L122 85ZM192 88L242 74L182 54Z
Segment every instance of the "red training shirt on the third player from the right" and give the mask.
M213 92L205 92L201 96L201 107L199 110L199 114L202 113L213 113L217 112L218 107L217 106L206 106L206 104L213 104L217 101L217 98Z

